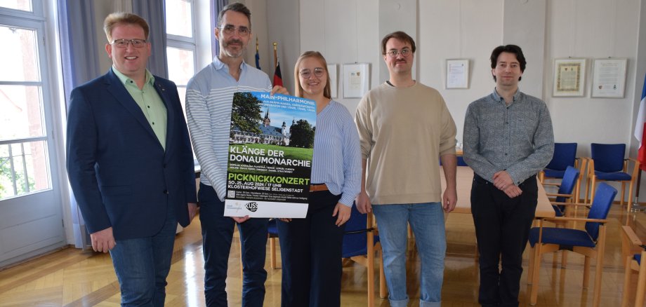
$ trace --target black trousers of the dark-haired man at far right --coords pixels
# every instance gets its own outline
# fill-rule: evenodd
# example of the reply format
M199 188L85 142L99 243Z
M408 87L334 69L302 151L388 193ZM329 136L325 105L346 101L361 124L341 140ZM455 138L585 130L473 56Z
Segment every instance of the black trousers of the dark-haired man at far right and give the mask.
M522 252L536 211L536 176L518 187L520 196L509 198L491 182L478 175L473 178L471 214L480 252L482 306L518 306Z

